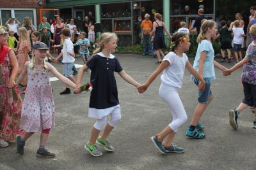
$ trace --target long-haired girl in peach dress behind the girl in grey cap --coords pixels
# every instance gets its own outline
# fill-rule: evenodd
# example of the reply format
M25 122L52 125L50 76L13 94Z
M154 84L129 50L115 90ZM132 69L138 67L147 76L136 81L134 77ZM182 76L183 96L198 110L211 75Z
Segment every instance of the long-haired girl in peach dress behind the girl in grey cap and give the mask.
M28 36L28 32L25 27L19 28L19 43L18 43L18 63L19 63L19 71L20 75L24 69L24 64L29 60L29 51L31 50L30 40ZM28 76L24 77L24 80L20 82L20 85L24 86L22 94L25 93L26 85L28 83Z

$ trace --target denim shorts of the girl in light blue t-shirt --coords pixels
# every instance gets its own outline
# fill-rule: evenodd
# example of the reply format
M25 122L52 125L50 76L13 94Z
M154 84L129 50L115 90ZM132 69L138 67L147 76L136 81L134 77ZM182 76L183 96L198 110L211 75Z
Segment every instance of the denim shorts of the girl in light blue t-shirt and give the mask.
M199 80L193 80L196 86L198 87ZM205 82L205 89L204 90L198 90L198 102L199 103L207 103L209 101L210 96L212 95L211 90L211 81Z

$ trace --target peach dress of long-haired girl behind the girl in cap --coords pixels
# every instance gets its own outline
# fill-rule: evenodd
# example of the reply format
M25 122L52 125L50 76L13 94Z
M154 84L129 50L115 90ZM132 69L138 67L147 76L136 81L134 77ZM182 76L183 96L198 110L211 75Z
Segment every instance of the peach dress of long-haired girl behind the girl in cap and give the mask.
M20 46L17 54L18 64L19 64L19 74L22 73L25 62L29 60L29 56L28 56L29 51L30 51L29 42L28 41L20 42ZM27 82L28 82L28 76L26 76L26 78L24 78L24 80L20 84L26 86Z

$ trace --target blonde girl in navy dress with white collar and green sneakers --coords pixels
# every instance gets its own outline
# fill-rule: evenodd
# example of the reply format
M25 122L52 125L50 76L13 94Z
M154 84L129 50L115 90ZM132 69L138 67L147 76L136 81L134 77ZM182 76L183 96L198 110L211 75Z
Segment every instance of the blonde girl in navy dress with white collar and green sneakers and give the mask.
M117 37L115 34L105 32L100 36L99 48L93 52L93 57L79 70L77 76L76 92L80 92L81 80L84 71L91 69L91 81L93 90L90 96L89 117L97 118L93 125L90 141L86 143L84 148L93 156L99 157L102 152L95 145L101 145L105 150L113 152L114 148L108 142L109 133L121 119L120 105L118 101L118 93L114 72L135 87L140 84L133 80L120 66L118 59L111 53L115 52ZM102 136L99 136L104 125L107 123L107 116L111 115L111 119L104 128Z

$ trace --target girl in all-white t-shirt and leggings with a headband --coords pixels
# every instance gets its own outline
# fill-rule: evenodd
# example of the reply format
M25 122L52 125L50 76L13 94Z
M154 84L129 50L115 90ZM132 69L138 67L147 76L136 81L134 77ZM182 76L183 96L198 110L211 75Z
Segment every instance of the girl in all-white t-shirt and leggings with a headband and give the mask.
M185 67L200 80L200 89L204 89L205 81L191 66L186 51L189 50L189 36L186 32L175 32L172 37L171 52L168 53L163 62L157 67L156 71L151 74L148 80L138 88L140 93L145 92L149 85L163 71L161 76L161 86L159 88L159 96L168 104L172 112L173 121L161 133L152 136L151 140L161 153L175 152L182 153L184 148L172 144L173 138L179 127L187 120L186 111L182 101L180 100L178 90L182 86ZM163 139L166 140L163 142Z

